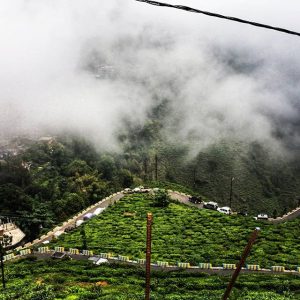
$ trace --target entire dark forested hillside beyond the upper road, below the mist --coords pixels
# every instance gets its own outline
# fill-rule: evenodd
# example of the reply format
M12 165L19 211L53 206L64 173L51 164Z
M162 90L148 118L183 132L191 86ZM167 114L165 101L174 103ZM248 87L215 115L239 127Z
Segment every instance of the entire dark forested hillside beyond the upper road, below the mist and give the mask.
M32 142L20 154L4 157L1 215L18 216L19 225L34 238L102 197L134 185L179 184L228 205L233 177L236 211L273 216L299 205L297 161L272 159L261 145L237 141L213 144L191 156L188 145L164 138L161 110L142 126L127 123L119 134L118 153L96 151L86 140L65 135Z

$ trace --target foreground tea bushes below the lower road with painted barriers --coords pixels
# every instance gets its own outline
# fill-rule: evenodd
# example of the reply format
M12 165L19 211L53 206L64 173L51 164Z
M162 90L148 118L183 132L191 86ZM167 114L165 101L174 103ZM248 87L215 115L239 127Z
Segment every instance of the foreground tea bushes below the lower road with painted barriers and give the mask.
M8 287L1 300L33 299L144 299L144 270L126 265L95 266L88 261L34 261L6 264ZM153 272L151 299L221 299L228 276L180 272ZM300 277L242 275L231 300L300 299Z

